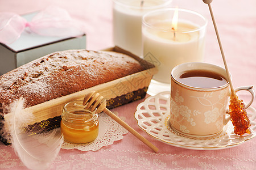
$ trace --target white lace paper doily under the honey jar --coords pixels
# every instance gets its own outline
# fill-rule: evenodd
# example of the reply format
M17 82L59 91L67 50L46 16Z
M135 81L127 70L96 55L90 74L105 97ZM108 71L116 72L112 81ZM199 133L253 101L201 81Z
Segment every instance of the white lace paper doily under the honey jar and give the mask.
M115 114L118 114L115 112ZM123 121L124 117L120 117ZM108 145L112 145L114 141L119 141L123 138L124 134L127 134L128 131L115 122L111 117L106 115L105 113L100 113L98 117L99 121L99 130L98 137L89 143L84 144L75 144L65 142L61 146L64 149L73 149L76 148L81 151L97 151L100 148Z

